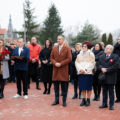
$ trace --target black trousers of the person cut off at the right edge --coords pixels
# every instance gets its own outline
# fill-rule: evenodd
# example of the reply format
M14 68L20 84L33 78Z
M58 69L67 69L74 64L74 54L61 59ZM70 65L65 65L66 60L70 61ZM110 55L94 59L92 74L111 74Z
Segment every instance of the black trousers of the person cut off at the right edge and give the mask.
M117 82L115 85L116 98L120 100L120 70L117 72Z

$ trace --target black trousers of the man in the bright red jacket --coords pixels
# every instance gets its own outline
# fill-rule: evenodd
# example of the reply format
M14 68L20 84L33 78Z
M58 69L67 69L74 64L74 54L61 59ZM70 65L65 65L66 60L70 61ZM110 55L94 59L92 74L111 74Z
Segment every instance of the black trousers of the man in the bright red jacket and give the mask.
M39 66L38 62L36 63L29 63L28 64L28 86L30 85L30 78L32 78L32 81L36 82L36 85L39 85Z

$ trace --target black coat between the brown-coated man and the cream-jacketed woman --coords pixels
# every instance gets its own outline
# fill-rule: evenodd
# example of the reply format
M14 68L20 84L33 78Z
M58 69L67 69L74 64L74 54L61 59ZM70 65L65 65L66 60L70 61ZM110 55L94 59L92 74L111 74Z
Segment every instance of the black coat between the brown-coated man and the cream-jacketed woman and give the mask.
M79 54L80 52L73 52L72 53L72 62L71 62L71 79L74 80L74 79L77 79L77 70L76 70L76 67L75 67L75 60L77 58L77 55Z

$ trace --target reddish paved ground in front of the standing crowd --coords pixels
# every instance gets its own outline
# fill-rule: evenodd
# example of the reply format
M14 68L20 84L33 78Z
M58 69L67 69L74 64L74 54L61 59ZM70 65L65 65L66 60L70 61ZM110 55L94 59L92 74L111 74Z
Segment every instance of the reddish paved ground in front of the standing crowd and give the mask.
M120 120L120 104L115 104L115 110L99 109L100 102L91 102L90 107L80 107L81 100L72 100L73 86L69 86L67 107L60 105L51 106L54 101L52 87L51 95L43 95L31 84L29 99L23 97L14 99L16 84L9 83L5 87L5 98L0 100L0 120Z

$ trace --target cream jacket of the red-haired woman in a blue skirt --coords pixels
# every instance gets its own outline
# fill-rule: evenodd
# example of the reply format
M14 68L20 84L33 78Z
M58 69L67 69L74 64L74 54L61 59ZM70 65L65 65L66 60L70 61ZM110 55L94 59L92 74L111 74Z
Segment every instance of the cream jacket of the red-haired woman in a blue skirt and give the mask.
M84 70L85 74L93 74L93 69L95 67L94 54L88 50L84 55L83 51L81 51L76 58L75 66L78 74L80 74L80 70Z

